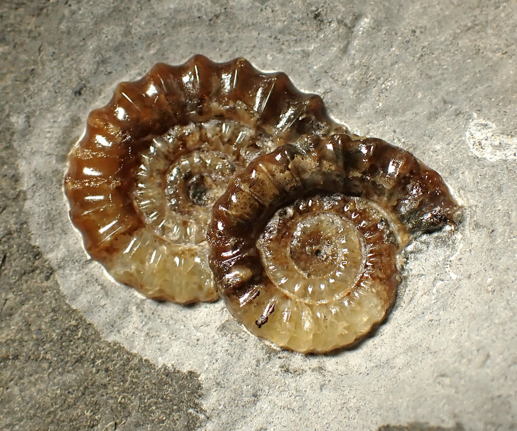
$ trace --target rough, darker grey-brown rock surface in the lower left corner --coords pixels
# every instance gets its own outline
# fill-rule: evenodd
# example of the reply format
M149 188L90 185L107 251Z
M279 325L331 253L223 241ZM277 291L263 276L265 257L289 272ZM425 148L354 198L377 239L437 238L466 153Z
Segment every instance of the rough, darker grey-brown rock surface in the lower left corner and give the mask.
M195 429L204 414L196 373L104 341L65 302L31 244L13 136L0 129L0 428Z

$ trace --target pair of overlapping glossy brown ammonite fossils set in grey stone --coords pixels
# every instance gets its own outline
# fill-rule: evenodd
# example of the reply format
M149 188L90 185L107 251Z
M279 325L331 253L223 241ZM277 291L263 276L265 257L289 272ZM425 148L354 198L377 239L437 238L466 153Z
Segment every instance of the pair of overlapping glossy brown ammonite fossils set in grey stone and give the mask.
M350 135L284 73L196 55L155 65L88 116L65 179L87 252L149 298L215 301L300 352L381 322L397 255L454 225L442 178L380 139Z

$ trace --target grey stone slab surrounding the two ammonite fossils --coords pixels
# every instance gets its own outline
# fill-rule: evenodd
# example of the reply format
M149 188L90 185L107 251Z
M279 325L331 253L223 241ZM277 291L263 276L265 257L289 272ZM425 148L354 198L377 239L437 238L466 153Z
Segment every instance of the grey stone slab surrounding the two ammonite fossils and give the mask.
M0 4L0 428L517 428L517 2ZM413 243L357 348L278 351L221 303L116 285L62 181L87 113L158 61L282 70L361 135L413 152L465 206Z

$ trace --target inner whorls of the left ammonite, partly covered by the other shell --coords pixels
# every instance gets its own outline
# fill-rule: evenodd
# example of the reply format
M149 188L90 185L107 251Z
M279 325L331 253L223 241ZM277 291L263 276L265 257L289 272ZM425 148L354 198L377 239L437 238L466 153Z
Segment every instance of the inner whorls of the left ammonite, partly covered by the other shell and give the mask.
M174 126L141 154L134 204L158 235L200 244L229 179L274 146L267 133L228 119Z

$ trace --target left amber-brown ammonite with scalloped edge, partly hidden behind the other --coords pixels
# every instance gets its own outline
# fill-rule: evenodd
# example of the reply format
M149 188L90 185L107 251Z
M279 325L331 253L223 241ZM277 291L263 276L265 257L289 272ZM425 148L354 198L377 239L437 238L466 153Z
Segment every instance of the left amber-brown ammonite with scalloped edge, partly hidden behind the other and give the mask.
M214 301L206 227L229 179L305 133L346 131L320 96L243 58L155 65L117 86L72 148L65 191L87 252L150 298Z

